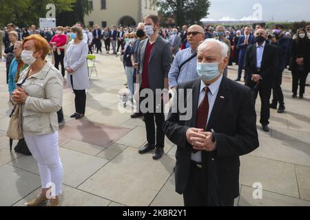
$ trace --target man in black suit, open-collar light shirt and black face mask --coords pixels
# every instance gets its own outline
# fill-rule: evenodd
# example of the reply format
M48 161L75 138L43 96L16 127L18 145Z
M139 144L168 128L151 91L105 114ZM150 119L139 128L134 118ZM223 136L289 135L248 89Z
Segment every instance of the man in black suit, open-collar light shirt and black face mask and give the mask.
M260 124L263 131L269 132L269 100L278 64L278 49L266 43L265 30L258 29L255 35L256 43L247 47L245 53L246 84L253 89L255 99L260 94Z

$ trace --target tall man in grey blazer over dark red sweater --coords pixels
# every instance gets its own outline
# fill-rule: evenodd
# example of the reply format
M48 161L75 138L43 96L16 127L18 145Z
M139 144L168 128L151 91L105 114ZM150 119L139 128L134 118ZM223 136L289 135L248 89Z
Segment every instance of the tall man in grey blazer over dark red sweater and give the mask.
M136 83L140 83L140 92L151 91L151 94L143 97L141 95L141 112L144 113L145 128L147 131L147 144L139 149L139 153L147 153L156 147L153 159L160 159L164 153L165 133L163 123L165 122L164 104L169 101L168 74L172 63L172 51L168 41L158 34L159 19L156 15L145 17L145 34L147 39L141 41L138 50L138 72ZM139 88L136 87L135 97L139 100ZM164 90L164 91L163 91ZM163 93L163 94L162 94ZM154 103L142 106L146 98L152 96ZM156 102L156 99L159 104ZM152 102L152 101L150 101ZM156 122L156 133L155 124ZM156 142L155 142L156 139Z

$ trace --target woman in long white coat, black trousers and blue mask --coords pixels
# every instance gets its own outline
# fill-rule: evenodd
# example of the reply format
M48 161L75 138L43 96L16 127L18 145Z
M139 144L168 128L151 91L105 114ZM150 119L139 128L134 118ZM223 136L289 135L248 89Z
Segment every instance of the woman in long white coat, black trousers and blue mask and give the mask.
M71 41L68 44L64 64L68 72L67 86L72 87L75 94L76 112L70 117L79 120L85 115L86 89L88 89L87 55L88 45L83 41L82 29L74 26L71 28Z

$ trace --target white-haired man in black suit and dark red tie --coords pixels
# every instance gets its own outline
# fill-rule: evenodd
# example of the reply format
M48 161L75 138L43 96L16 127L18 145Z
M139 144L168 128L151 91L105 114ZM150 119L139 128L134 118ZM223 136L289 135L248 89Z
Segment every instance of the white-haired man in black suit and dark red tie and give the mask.
M239 156L259 145L251 89L223 77L227 52L227 45L216 39L198 47L199 78L178 85L163 126L178 146L176 192L183 194L185 206L234 206ZM179 109L183 104L186 112ZM190 113L188 120L183 117Z

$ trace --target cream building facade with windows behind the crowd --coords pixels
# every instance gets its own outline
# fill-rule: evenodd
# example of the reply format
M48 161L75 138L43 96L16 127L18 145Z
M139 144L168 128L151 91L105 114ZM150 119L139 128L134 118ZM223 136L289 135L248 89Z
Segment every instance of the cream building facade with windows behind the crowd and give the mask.
M147 14L158 14L157 0L91 0L92 11L85 15L86 26L131 26L143 21Z

